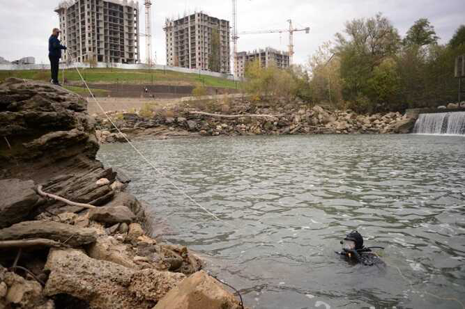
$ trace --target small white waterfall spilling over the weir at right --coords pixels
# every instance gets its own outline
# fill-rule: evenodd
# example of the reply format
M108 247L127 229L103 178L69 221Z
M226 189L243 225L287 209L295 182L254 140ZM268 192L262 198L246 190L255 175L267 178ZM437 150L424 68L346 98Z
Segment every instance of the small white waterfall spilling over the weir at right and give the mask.
M420 113L413 133L465 135L465 111Z

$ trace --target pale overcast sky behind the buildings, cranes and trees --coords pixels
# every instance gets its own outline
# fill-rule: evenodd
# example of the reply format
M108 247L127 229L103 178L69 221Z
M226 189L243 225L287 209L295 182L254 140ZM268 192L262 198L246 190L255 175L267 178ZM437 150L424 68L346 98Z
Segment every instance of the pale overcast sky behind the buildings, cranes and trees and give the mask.
M141 8L141 32L144 32L144 10ZM166 63L165 32L167 17L203 10L214 17L231 20L230 0L155 0L152 6L153 34L158 64ZM381 12L404 35L414 21L426 17L434 25L441 42L448 42L460 24L465 24L464 0L237 0L238 31L288 29L287 19L295 26L310 26L310 34L296 33L295 63L306 63L308 56L334 34L343 31L347 20L372 17ZM25 56L46 63L47 40L59 26L54 8L58 0L0 0L0 56L8 61ZM273 3L273 4L270 4ZM142 38L142 44L145 44ZM289 35L267 33L242 35L239 51L274 47L287 50ZM145 58L145 45L141 58Z

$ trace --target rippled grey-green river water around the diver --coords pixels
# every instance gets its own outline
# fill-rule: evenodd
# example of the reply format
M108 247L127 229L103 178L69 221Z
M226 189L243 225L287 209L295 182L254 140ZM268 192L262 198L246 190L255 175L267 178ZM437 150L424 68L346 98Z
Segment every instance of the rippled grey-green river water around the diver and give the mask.
M136 145L224 222L186 200L128 145L105 145L99 158L132 176L132 192L165 219L164 239L206 255L208 268L240 288L250 308L465 303L464 137L255 136ZM335 255L353 229L365 244L386 246L386 267L353 266Z

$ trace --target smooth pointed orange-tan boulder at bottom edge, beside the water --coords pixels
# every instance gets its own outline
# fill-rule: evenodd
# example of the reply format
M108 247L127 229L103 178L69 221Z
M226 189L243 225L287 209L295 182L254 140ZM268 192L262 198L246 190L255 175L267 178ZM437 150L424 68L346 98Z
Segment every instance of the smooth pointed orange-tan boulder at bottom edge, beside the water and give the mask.
M153 309L241 309L241 303L221 284L199 271L171 289Z

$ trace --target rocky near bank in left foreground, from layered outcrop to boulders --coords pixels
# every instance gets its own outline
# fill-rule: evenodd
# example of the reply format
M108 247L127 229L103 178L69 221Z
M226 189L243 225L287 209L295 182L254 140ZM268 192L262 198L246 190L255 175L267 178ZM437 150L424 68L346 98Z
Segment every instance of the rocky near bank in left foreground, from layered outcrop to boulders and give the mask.
M82 97L0 84L0 309L242 308L188 248L152 238L147 204L98 148Z

